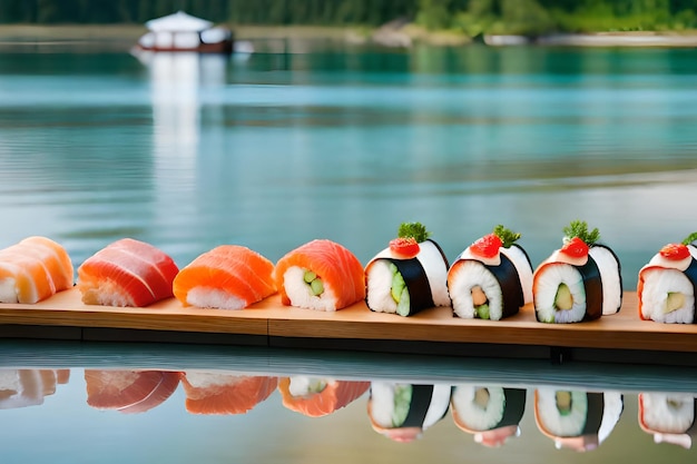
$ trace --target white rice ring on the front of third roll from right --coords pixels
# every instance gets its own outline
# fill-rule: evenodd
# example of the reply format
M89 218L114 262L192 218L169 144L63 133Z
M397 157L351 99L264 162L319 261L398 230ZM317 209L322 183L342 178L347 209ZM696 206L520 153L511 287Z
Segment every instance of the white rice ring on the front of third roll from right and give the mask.
M472 319L477 315L472 302L472 288L481 287L489 300L489 318L499 320L503 316L503 295L494 275L480 261L465 259L455 261L448 274L448 289L455 315Z

